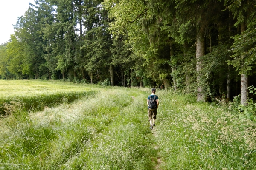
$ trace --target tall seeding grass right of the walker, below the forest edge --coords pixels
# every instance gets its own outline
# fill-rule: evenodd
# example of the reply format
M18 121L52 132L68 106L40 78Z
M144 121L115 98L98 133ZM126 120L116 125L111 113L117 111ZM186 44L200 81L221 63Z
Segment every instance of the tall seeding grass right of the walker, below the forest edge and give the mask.
M160 93L156 139L169 170L256 169L256 124L189 95Z

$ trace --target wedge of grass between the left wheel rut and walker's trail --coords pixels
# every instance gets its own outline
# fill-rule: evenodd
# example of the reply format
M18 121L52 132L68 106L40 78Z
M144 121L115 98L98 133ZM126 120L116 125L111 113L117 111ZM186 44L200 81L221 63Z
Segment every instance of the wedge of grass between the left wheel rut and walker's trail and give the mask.
M122 91L121 95L123 94L126 93ZM67 163L68 166L81 167L84 170L154 169L157 156L151 145L154 143L151 133L145 127L143 96L140 93L131 97L134 101L126 105L102 133L85 144L84 150L73 156Z

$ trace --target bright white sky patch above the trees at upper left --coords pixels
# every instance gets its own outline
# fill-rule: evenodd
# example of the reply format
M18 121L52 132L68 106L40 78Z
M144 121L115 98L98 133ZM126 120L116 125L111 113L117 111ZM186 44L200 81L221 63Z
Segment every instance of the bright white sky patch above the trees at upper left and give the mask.
M34 3L34 0L0 0L0 45L14 34L12 25L16 24L18 16L25 14L29 2Z

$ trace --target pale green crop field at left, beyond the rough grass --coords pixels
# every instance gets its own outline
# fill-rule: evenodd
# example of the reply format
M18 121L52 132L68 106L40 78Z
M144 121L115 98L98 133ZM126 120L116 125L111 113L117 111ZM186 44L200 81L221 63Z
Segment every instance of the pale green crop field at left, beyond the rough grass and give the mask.
M0 91L0 115L6 114L4 105L11 101L20 101L25 110L37 111L96 93L90 87L70 82L33 80L0 80Z

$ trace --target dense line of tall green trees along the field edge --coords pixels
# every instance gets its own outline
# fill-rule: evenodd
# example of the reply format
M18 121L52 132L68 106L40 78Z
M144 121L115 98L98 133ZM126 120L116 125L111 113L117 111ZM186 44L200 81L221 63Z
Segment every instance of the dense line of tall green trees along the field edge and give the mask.
M228 100L255 85L256 1L36 0L0 46L2 79L155 86Z

